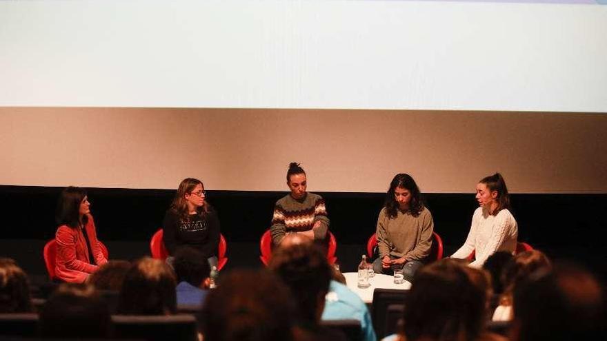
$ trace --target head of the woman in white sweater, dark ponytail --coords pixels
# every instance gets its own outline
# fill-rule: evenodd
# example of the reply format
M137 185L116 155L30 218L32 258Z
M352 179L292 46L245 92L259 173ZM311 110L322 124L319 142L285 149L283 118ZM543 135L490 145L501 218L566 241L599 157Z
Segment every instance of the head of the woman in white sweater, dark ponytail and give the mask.
M510 209L510 195L506 181L499 173L485 176L477 184L477 201L493 216L502 209Z

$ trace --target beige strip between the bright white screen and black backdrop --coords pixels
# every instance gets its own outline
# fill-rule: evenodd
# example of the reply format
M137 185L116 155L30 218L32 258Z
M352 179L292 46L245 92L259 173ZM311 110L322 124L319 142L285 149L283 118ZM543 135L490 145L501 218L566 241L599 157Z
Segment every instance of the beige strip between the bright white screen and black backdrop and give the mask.
M0 107L0 185L472 192L499 171L511 192L606 193L607 115L413 110Z

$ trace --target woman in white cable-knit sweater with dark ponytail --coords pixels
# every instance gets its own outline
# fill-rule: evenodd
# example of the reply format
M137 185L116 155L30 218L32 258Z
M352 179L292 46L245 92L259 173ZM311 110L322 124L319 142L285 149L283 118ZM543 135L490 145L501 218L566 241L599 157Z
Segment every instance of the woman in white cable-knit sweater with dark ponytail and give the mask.
M470 266L482 267L496 251L514 254L519 229L517 220L509 210L510 197L501 174L495 173L480 180L476 198L481 207L472 215L472 226L466 242L451 258L468 258L474 251L475 260L470 262Z

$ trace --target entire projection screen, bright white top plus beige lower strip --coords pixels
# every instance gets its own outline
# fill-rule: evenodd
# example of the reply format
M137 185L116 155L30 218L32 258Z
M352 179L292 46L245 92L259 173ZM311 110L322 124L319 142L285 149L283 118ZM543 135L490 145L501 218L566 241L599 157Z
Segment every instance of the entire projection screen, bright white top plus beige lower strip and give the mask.
M298 161L317 192L607 193L606 28L589 0L0 1L0 185L280 191Z

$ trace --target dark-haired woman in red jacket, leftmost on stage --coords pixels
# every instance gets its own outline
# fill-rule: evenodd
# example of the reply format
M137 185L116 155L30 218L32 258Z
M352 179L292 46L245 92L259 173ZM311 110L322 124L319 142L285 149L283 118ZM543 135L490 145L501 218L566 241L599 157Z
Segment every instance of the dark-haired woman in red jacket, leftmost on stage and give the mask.
M90 215L86 191L66 187L57 203L57 265L58 280L85 282L90 273L108 260L103 257L94 222Z

